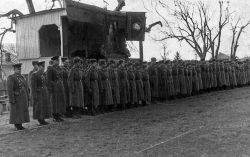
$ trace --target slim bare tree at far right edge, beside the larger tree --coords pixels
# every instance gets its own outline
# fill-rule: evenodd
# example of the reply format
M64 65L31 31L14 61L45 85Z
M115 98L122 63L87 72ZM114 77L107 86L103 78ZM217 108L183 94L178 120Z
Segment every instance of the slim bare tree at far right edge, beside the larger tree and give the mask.
M237 22L233 25L231 24L232 27L232 43L231 43L231 60L235 60L236 59L236 52L237 49L239 47L239 39L241 34L244 32L244 29L250 24L250 21L248 21L246 24L241 24L241 26L239 26L240 24L240 20L241 18L238 18Z

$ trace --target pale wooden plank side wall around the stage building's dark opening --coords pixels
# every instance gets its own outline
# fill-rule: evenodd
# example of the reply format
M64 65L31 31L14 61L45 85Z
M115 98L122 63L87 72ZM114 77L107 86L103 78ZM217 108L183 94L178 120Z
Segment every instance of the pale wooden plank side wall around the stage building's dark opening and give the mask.
M60 28L60 18L65 14L65 10L60 10L17 19L16 49L18 59L39 58L39 29L42 25L49 24L56 24Z

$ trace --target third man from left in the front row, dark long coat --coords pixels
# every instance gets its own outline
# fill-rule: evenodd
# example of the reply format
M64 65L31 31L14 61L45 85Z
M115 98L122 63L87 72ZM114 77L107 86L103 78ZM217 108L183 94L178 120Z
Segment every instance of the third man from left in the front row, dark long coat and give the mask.
M64 121L61 116L66 112L66 102L62 81L59 56L51 58L53 65L47 69L48 91L52 104L52 114L56 122Z

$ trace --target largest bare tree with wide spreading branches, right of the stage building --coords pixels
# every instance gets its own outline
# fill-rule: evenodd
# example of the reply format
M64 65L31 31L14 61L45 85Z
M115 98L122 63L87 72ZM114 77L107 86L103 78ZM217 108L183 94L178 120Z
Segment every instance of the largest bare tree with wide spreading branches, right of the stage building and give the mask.
M160 7L159 7L160 6ZM195 50L201 60L205 60L206 55L211 51L213 57L218 54L221 35L224 26L228 23L229 12L228 7L223 9L223 2L219 2L220 16L218 26L212 26L215 19L209 12L209 7L202 1L192 3L189 1L174 0L174 9L170 8L162 1L156 3L155 11L165 21L165 30L160 31L163 38L157 41L167 39L177 39L186 42ZM174 22L170 23L160 9L170 15Z

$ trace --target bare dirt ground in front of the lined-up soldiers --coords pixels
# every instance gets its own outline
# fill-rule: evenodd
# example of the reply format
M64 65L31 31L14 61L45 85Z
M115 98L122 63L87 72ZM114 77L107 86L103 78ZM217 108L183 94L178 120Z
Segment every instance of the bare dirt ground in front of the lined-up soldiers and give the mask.
M6 116L0 118L0 156L250 156L250 87L40 128L33 121L24 132L13 132Z

